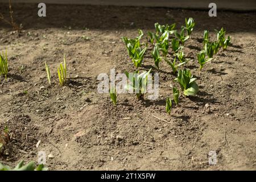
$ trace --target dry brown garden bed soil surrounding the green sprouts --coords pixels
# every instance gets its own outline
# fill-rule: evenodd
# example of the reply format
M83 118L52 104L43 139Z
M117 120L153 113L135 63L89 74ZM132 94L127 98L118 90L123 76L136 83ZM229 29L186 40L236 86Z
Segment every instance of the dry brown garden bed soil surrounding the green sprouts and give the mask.
M256 169L255 13L225 11L211 18L208 11L48 5L47 17L39 18L36 7L14 6L22 35L0 27L0 51L7 49L10 68L0 83L0 129L8 126L13 138L0 156L3 163L37 161L45 151L52 155L46 164L51 170ZM6 10L7 4L0 7ZM168 115L165 99L170 85L177 85L175 76L164 61L155 69L149 52L140 69L159 73L158 100L121 94L114 106L109 94L97 92L100 73L135 71L122 36L135 38L138 28L154 31L156 22L179 28L189 17L196 26L184 53L199 85L196 97L181 96ZM221 27L232 45L199 71L203 31L215 39L214 29ZM64 53L68 81L61 87L57 67ZM208 164L210 151L217 152L217 165Z

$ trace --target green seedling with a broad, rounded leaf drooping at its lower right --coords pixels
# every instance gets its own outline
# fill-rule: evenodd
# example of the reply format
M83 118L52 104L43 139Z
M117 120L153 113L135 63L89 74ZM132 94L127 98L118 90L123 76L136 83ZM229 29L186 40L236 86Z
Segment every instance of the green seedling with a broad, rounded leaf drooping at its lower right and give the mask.
M175 78L175 81L179 82L185 96L196 96L199 87L195 80L196 78L193 78L188 69L179 70L177 78Z

